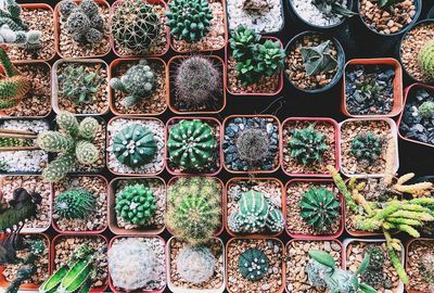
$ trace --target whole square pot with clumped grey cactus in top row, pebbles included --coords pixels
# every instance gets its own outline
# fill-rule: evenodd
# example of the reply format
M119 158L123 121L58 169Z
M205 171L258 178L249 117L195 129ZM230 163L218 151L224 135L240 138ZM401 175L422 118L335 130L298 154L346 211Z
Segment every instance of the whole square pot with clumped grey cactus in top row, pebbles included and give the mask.
M54 10L61 58L104 56L110 44L110 4L105 0L62 0Z

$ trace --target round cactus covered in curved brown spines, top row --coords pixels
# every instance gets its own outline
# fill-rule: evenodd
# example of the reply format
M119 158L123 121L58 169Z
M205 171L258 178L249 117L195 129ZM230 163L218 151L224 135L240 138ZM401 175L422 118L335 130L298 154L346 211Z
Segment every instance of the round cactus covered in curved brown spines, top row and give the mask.
M119 1L112 15L112 34L120 48L146 53L159 37L161 16L153 4L141 0Z

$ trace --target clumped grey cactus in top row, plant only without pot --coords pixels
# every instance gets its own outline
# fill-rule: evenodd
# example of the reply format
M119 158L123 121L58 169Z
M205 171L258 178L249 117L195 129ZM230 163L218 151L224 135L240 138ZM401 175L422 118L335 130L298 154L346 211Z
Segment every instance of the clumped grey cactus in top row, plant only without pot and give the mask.
M94 0L84 0L76 4L73 0L63 0L59 11L66 20L66 31L77 42L98 43L104 37L104 20L100 15Z

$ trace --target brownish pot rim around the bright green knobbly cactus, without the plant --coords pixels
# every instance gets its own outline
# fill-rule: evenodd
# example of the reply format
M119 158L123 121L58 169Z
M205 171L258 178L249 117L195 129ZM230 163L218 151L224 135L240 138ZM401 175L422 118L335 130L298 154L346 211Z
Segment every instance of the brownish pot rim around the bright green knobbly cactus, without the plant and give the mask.
M117 190L116 187L119 181L124 181L124 180L125 181L127 181L127 180L158 180L164 186L165 193L167 194L166 182L159 177L143 177L143 178L118 177L118 178L113 179L110 182L108 201L107 201L107 212L108 212L107 216L108 216L110 230L116 235L129 235L129 234L132 234L132 235L156 235L156 234L162 233L164 231L164 228L166 227L165 224L159 229L157 229L157 228L149 229L146 227L143 227L143 228L139 227L139 228L135 228L135 229L125 229L125 228L120 228L117 225L116 211L115 211L116 190Z

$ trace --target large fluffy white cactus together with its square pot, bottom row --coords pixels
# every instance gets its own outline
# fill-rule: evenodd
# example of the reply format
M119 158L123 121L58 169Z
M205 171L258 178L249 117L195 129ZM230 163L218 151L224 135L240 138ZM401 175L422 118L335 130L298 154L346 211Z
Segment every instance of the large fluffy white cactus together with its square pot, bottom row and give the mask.
M159 237L115 237L108 249L113 292L163 292L166 288L165 241Z

